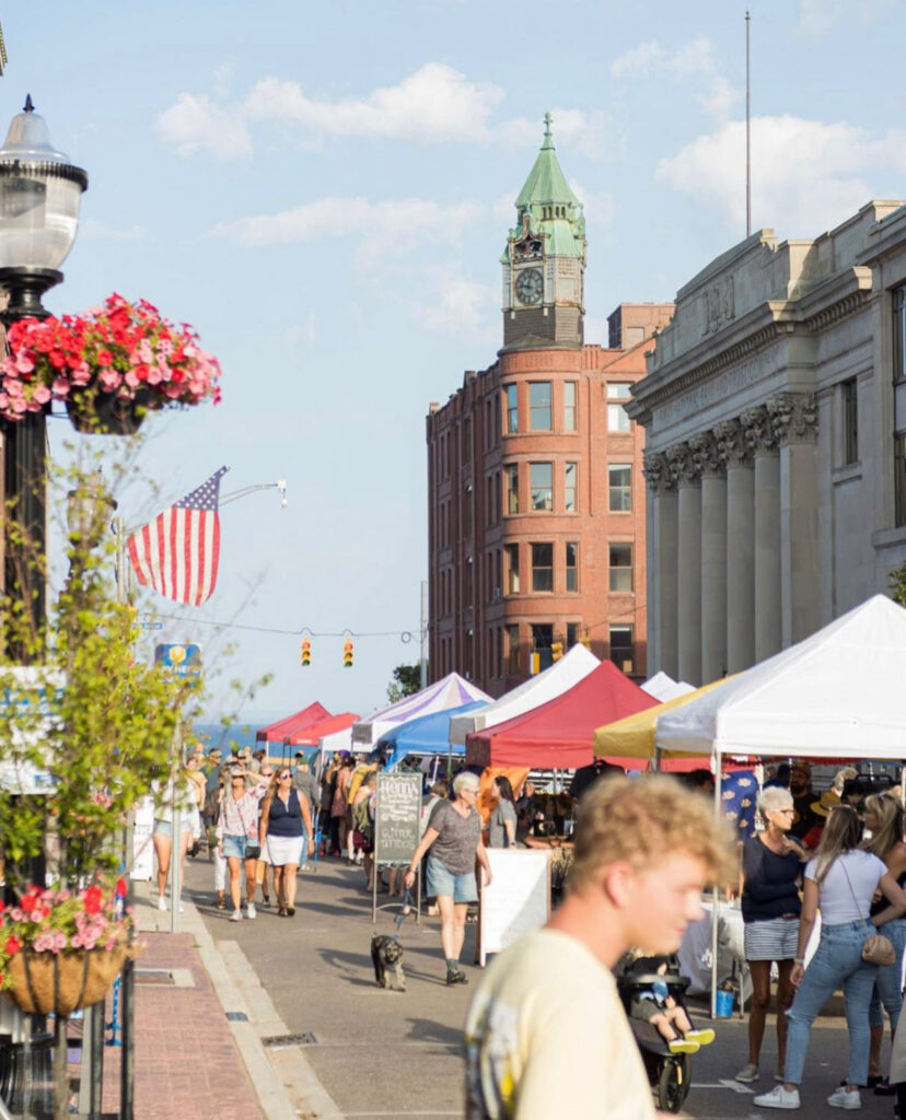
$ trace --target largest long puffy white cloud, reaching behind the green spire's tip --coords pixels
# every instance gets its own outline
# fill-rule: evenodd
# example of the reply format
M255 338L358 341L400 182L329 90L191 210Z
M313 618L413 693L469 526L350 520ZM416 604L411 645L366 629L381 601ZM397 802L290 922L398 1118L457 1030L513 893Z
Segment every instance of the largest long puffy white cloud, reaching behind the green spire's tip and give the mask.
M307 146L330 137L519 147L540 146L542 139L540 114L494 123L505 91L442 63L427 63L364 96L335 100L310 96L298 82L265 77L245 97L228 102L230 78L228 67L217 71L213 97L179 94L158 118L160 140L184 157L208 152L243 159L253 152L252 130L269 127ZM609 113L559 108L553 118L557 140L590 159L606 158L622 143Z

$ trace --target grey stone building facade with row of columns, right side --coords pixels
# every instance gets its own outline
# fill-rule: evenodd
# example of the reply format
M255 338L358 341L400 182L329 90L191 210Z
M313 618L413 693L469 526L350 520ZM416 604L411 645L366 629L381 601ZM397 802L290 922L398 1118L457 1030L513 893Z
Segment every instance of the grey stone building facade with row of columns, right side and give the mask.
M706 683L886 591L906 560L906 206L717 258L627 411L646 430L650 672Z

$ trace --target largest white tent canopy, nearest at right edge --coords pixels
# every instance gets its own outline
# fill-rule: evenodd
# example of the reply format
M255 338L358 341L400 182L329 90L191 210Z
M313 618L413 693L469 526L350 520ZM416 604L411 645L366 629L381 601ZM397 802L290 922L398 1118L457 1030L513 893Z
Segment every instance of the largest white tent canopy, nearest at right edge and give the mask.
M691 754L906 759L906 610L882 595L690 703L655 743Z

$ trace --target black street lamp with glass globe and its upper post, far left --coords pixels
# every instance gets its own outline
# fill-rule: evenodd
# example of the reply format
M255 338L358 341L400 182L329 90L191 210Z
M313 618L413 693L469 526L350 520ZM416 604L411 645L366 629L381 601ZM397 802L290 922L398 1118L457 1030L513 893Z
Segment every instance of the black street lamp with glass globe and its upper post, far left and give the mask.
M31 96L12 118L0 148L0 288L8 304L0 321L46 318L44 293L63 280L59 265L73 248L78 209L88 177L50 143L47 123L35 112ZM47 418L28 412L2 422L6 532L3 586L24 604L35 637L46 618L45 569ZM10 517L11 513L11 517ZM8 643L7 657L28 662L28 642Z

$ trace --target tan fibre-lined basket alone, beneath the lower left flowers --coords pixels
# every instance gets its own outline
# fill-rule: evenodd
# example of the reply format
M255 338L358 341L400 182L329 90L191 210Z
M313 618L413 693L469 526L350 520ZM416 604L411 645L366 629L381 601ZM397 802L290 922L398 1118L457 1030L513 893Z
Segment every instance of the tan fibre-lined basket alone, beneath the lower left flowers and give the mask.
M106 996L125 956L125 945L63 953L24 949L9 963L7 995L29 1015L72 1015Z

